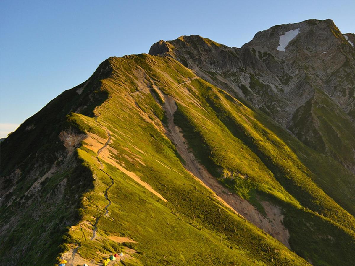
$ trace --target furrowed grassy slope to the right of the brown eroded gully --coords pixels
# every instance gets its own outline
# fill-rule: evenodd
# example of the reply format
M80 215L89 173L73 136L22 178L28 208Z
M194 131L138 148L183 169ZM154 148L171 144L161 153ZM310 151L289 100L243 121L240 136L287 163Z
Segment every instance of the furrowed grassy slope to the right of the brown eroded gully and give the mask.
M212 105L214 110L218 110L217 112L209 110L208 113L199 116L198 118L201 120L196 122L197 116L189 112L188 108L179 105L180 113L176 117L176 121L178 123L180 121L179 124L184 129L185 137L190 140L189 143L195 150L197 157L209 166L211 172L215 169L216 174L221 173L221 181L230 189L249 199L251 203L254 203L254 190L256 189L257 194L263 198L266 197L266 199L282 206L286 216L285 224L291 234L290 244L297 253L318 264L321 264L322 260L335 264L340 254L343 261L350 262L353 259L351 249L354 248L354 217L311 181L310 176L314 178L312 173L297 160L295 154L280 139L254 120L250 111L247 111L241 104L229 105L230 98L224 97L223 92L218 93L217 89L204 84L203 81L197 82L200 84L195 84L195 88L199 87L200 92L204 94L204 99L208 99L209 105ZM233 108L226 110L225 105ZM206 106L208 105L203 106L207 110ZM217 109L217 107L219 108ZM241 108L239 111L233 111L236 107ZM236 111L237 113L235 113ZM239 139L244 140L247 147L240 145L239 141L233 142L233 137L230 133L228 134L225 127L217 129L215 127L218 124L216 117L219 117L220 121L224 121L231 133L234 132ZM216 122L208 123L206 118ZM204 122L202 122L203 120ZM186 121L190 121L190 124ZM212 125L213 127L211 127ZM223 133L221 134L220 131ZM201 142L204 145L200 145ZM208 150L203 147L208 147ZM237 162L233 160L232 156L224 156L230 151L237 153L234 154L238 158ZM248 165L251 162L250 151L253 151L262 160L257 166L250 167ZM263 178L260 165L267 166L272 173L264 173L265 178ZM230 178L230 174L223 174L225 172L232 172L233 177ZM269 179L266 178L267 174L269 174ZM246 176L248 178L245 178ZM285 204L285 201L287 202L285 199L292 198L288 193L277 190L278 186L273 177L302 206L297 201L289 201ZM351 202L348 204L351 205ZM329 221L329 218L333 221ZM305 221L307 222L305 223ZM344 231L339 230L338 227L342 226L347 228L343 228ZM335 240L336 238L338 239ZM335 245L334 241L338 244ZM338 245L341 245L342 248L339 248ZM305 250L305 246L307 246L307 250ZM325 249L332 251L329 254L324 254L322 250Z

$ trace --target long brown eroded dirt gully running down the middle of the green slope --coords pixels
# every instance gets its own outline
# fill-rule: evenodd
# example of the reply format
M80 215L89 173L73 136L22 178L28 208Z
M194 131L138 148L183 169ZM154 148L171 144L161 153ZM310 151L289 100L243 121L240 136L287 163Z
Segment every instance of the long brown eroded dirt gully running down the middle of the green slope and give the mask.
M217 179L214 178L189 151L189 146L180 132L180 128L174 124L174 112L177 109L175 100L167 95L164 95L164 97L165 103L163 107L166 111L166 115L168 116L168 127L170 129L170 132L167 131L166 134L175 144L181 157L185 160L186 170L189 171L205 187L210 189L222 204L237 214L245 217L246 220L263 229L265 232L278 239L290 249L290 245L288 243L289 232L283 226L283 216L281 210L277 206L264 201L262 205L266 207L265 210L268 216L264 217L247 200L240 198L236 194L230 193L226 188L224 188L223 185L220 184Z

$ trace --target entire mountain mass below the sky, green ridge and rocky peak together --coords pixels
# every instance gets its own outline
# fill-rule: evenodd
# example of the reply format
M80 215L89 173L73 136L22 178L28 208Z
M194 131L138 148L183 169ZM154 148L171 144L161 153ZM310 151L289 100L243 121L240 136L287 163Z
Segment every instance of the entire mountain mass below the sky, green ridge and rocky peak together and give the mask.
M308 20L105 60L1 142L1 264L351 265L354 38Z

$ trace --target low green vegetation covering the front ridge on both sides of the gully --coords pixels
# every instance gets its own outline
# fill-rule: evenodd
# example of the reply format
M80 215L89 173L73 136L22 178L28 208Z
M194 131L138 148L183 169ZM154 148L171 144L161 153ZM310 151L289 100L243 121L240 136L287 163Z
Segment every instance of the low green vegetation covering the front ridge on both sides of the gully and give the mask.
M58 136L70 129L72 135L87 138L80 139L70 155L57 140L61 156L68 156L62 158L65 163L58 163L61 171L44 179L38 198L17 216L21 222L1 242L11 254L23 247L23 240L32 244L16 258L18 264L54 264L61 254L73 251L96 263L122 251L125 265L334 265L354 261L354 209L345 196L329 196L337 193L327 179L319 178L332 165L353 184L343 166L323 158L262 112L196 77L170 57L111 57L100 67L110 72L93 75L99 82L92 84L98 87L86 87L82 94L77 88L68 91L79 102L82 97L92 99L85 93L100 95L90 101L95 107L78 109L71 102L72 107L60 114L61 126L56 131ZM226 191L248 200L264 215L262 201L282 209L292 251L226 208L185 170L186 162L167 137L163 94L176 101L174 122L191 152ZM35 127L41 115L31 118ZM1 148L9 153L12 141L1 143ZM312 156L313 160L307 159ZM29 189L24 182L18 184L16 193ZM1 214L10 217L10 210L19 208L16 204L21 202L2 207ZM28 221L35 209L41 211L33 226ZM117 242L113 237L134 242ZM0 255L5 262L12 260L12 255Z

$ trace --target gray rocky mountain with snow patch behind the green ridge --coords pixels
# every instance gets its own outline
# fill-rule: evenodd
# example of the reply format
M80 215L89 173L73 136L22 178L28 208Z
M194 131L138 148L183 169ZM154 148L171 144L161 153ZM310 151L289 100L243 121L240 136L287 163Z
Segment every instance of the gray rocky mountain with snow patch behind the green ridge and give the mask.
M354 43L332 20L307 20L258 32L241 48L191 35L149 54L174 57L355 172Z

